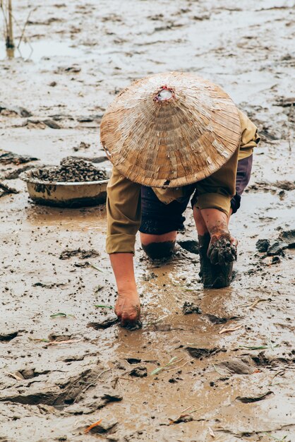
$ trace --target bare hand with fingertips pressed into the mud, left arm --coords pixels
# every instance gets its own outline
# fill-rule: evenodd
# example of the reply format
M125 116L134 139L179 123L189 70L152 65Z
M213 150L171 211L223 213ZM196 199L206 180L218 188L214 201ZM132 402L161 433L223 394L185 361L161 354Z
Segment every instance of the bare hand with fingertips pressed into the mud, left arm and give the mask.
M136 324L140 318L140 300L138 294L118 294L115 313L123 327L130 327Z

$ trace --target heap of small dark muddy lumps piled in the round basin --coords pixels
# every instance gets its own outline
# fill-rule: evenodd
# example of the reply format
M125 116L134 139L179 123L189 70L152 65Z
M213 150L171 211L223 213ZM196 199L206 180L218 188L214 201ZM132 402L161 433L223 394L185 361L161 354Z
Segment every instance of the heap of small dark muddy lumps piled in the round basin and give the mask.
M49 182L84 182L107 179L107 174L97 169L91 162L75 157L64 158L61 160L60 167L39 169L38 174L40 180Z

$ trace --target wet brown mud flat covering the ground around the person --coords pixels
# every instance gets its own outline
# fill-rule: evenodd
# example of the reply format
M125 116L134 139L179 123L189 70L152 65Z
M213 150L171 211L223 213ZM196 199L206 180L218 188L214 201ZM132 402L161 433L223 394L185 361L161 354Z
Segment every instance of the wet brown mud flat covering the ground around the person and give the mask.
M30 7L17 2L19 23ZM18 192L0 198L0 440L294 440L294 2L34 7L34 51L23 42L23 59L0 61L1 185ZM104 206L34 205L18 169L71 155L110 168L104 109L167 70L222 85L262 142L230 223L231 286L203 289L188 209L172 258L153 263L137 243L142 328L130 331L112 309ZM184 315L185 303L201 313Z

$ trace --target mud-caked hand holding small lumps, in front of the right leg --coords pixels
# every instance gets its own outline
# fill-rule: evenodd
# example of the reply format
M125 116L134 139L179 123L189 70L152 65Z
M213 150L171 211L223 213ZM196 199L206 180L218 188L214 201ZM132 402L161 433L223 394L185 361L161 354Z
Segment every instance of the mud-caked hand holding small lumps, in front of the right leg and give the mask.
M224 265L236 261L238 241L231 234L222 232L213 234L207 251L207 257L212 264Z

